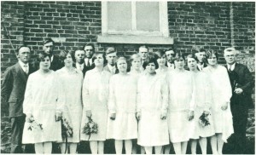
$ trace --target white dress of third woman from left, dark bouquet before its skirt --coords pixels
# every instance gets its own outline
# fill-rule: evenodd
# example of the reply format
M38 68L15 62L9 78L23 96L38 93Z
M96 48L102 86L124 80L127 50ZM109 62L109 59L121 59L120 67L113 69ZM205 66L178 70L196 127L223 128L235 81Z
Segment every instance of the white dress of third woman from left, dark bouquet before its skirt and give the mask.
M96 68L87 71L83 85L83 117L81 122L80 140L88 141L89 135L83 133L85 123L88 122L86 111L92 113L92 120L98 125L98 133L91 134L89 141L106 141L108 119L108 83L111 73L97 71Z

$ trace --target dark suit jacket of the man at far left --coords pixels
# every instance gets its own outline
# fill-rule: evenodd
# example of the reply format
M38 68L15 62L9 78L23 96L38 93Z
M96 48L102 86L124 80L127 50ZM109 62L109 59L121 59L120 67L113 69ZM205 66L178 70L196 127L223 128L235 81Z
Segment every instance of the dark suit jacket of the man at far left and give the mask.
M29 64L28 75L35 71L36 69ZM10 66L4 73L1 97L4 103L9 103L9 117L24 115L23 100L28 75L22 70L19 62Z

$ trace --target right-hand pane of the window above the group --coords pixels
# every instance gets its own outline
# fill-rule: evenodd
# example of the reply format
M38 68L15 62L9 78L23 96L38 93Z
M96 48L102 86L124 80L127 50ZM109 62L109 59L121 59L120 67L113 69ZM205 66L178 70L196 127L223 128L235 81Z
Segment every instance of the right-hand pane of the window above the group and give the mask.
M137 2L136 14L138 31L160 31L158 2Z

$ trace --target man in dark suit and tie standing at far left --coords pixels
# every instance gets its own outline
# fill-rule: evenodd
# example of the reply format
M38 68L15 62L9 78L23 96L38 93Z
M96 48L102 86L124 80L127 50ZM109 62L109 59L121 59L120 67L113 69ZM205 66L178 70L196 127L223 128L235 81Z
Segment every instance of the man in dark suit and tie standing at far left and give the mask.
M2 104L9 104L11 121L11 150L10 153L22 153L21 142L26 115L23 113L23 100L26 81L35 69L28 63L31 49L20 46L16 51L18 62L4 72L2 83Z

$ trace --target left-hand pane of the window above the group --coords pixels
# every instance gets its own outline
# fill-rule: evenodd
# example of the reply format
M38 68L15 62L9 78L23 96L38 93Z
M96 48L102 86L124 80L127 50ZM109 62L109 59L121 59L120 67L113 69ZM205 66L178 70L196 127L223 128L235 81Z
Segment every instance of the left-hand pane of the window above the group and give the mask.
M131 30L131 2L108 2L108 30Z

